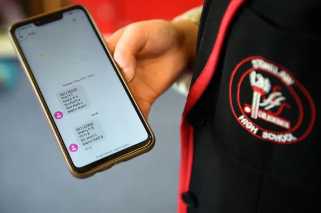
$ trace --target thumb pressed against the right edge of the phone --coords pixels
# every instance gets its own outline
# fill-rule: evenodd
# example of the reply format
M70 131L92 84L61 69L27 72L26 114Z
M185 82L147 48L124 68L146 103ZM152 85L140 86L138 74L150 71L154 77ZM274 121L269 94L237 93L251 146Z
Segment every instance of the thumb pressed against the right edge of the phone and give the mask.
M140 23L129 25L121 35L114 51L114 60L127 82L135 76L136 54L146 43L146 32Z

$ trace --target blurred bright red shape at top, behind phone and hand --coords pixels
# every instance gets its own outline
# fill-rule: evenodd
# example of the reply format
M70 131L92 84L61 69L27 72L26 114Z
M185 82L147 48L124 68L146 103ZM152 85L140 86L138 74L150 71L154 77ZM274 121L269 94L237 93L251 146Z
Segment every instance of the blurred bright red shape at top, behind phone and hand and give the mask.
M70 4L85 6L100 31L110 34L130 23L148 20L172 20L204 0L69 0Z

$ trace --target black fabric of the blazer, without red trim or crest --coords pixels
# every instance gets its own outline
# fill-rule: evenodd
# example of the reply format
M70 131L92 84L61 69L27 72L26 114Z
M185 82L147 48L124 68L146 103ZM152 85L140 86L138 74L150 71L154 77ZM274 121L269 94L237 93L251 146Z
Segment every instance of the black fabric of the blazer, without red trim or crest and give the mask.
M203 37L192 84L203 70L214 46L221 18L217 18L219 14L215 18L211 16L218 2L208 6L209 15L201 34ZM321 126L317 114L320 111L318 94L321 91L316 74L321 56L318 36L321 22L312 19L315 17L313 11L320 11L317 8L319 4L312 0L296 2L294 6L294 2L289 0L277 4L275 1L274 5L272 1L263 2L248 2L238 12L230 27L218 70L189 113L188 120L194 127L189 193L195 196L198 204L189 207L188 213L321 212L321 205L318 204L321 199L318 129ZM310 16L306 10L311 12ZM291 19L284 14L294 17ZM305 25L304 20L314 21ZM312 131L302 141L284 145L258 139L246 131L232 114L229 99L231 75L235 67L250 56L264 57L282 65L309 92L316 107L316 120ZM249 67L242 69L240 72L245 73ZM271 80L271 83L275 82ZM299 90L295 92L302 101L304 116L311 116L306 96ZM251 100L253 92L242 92L241 95ZM291 101L291 97L288 100ZM286 116L295 120L295 109L290 111L293 114ZM302 122L308 123L305 120ZM262 126L269 127L268 124Z

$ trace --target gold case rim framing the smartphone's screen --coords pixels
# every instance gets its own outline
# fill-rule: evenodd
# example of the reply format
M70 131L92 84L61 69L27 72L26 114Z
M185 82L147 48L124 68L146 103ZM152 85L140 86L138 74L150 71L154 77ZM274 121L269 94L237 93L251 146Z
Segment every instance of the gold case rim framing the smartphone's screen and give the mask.
M139 116L140 116L140 118L141 118L141 122L143 122L143 123L145 124L145 126L147 127L148 135L149 135L149 141L148 141L148 143L144 144L142 147L139 147L139 148L135 149L134 151L130 151L130 152L124 154L124 155L121 155L121 156L115 158L115 159L112 159L112 160L110 160L110 161L107 161L107 162L105 162L105 163L103 163L103 164L101 164L101 165L98 165L98 166L96 166L96 167L92 168L91 170L88 170L88 171L86 171L86 172L84 172L84 173L79 173L79 172L77 172L76 169L74 168L73 163L72 163L72 160L71 160L71 158L69 157L67 148L66 148L65 145L64 145L64 142L63 142L63 140L62 140L62 138L61 138L61 136L60 136L60 134L59 134L59 132L58 132L58 129L57 129L56 125L55 125L55 122L54 122L54 120L53 120L53 118L52 118L52 116L51 116L51 113L49 112L49 109L47 108L47 106L46 106L46 104L45 104L45 100L44 100L44 98L43 98L42 95L41 95L40 89L38 88L37 83L36 83L36 81L35 81L35 79L34 79L34 76L33 76L32 72L31 72L31 70L30 70L30 68L29 68L29 66L28 66L28 63L27 63L27 61L26 61L26 59L25 59L25 57L24 57L24 55L23 55L23 53L22 53L22 50L21 50L21 48L19 47L18 41L17 41L17 39L15 38L14 30L15 30L15 28L16 28L17 26L21 26L21 25L23 25L23 24L30 23L30 22L35 21L35 20L38 20L38 19L40 19L40 18L42 18L42 17L50 16L50 15L55 14L55 13L57 13L57 12L62 12L62 13L64 13L64 12L70 11L70 10L72 10L72 9L79 9L79 8L81 8L82 10L84 10L84 11L87 13L90 21L92 22L92 24L93 24L93 26L94 26L94 30L95 30L95 31L98 33L98 35L99 35L99 39L100 39L101 41L104 41L103 36L102 36L101 33L99 32L96 23L93 21L92 16L91 16L90 13L88 12L88 10L87 10L85 7L81 6L81 5L68 6L68 7L59 9L59 10L55 10L55 11L50 12L50 13L45 13L45 14L42 14L42 15L38 15L38 16L31 17L31 18L29 18L29 19L26 19L26 20L17 22L17 23L13 24L13 25L10 27L10 29L9 29L9 37L10 37L10 39L11 39L11 42L12 42L12 44L13 44L16 52L17 52L17 54L18 54L20 63L22 64L22 66L23 66L23 68L24 68L24 70L25 70L25 73L26 73L26 75L27 75L27 77L28 77L28 79L29 79L32 87L33 87L33 90L34 90L34 92L36 93L37 99L38 99L38 101L39 101L39 103L40 103L40 105L41 105L41 107L42 107L42 109L43 109L43 112L45 113L45 116L46 116L46 118L47 118L47 121L48 121L48 123L49 123L49 125L50 125L50 128L51 128L51 130L52 130L55 138L56 138L56 141L58 142L58 145L59 145L59 147L60 147L60 150L62 151L63 156L64 156L64 158L65 158L65 160L66 160L66 162L67 162L67 164L68 164L68 168L69 168L71 174L72 174L74 177L77 177L77 178L87 178L87 177L90 177L90 176L94 175L94 174L97 173L97 172L106 170L106 169L111 168L112 166L114 166L114 165L116 165L116 164L118 164L118 163L127 161L127 160L129 160L129 159L132 159L132 158L138 156L138 155L141 155L141 154L143 154L143 153L146 153L146 152L150 151L150 150L153 148L154 144L155 144L155 137L154 137L154 134L153 134L153 132L152 132L152 130L151 130L148 122L147 122L146 119L144 118L144 116L143 116L143 114L142 114L142 111L140 110L140 108L139 108L139 106L137 105L134 97L132 96L132 94L131 94L131 92L130 92L128 86L127 86L127 84L125 83L125 80L124 80L124 78L122 77L121 72L119 71L118 66L116 65L116 63L115 63L115 61L113 60L113 58L110 57L110 58L112 59L112 63L114 64L114 67L116 68L116 71L119 73L119 75L120 75L120 77L121 77L121 81L122 81L122 82L124 83L124 85L125 85L125 89L128 90L128 93L129 93L129 95L130 95L130 98L132 99L132 102L134 103L134 105L135 105L135 107L136 107L136 109L137 109L136 111L137 111L137 113L139 114ZM105 44L105 43L103 42L103 44ZM109 52L109 50L108 50L108 48L107 48L106 45L104 45L104 48L105 48L106 52L109 54L109 56L111 56L111 54L110 54L110 52ZM124 130L124 131L125 131L125 130Z

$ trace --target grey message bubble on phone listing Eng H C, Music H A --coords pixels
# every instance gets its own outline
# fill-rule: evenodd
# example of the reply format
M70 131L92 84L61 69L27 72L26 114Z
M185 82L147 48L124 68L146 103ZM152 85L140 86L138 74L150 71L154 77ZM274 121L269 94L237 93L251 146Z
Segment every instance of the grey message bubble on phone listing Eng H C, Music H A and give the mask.
M57 97L65 114L72 114L90 107L86 93L79 85L60 91Z

